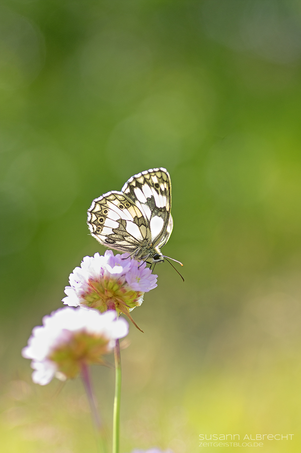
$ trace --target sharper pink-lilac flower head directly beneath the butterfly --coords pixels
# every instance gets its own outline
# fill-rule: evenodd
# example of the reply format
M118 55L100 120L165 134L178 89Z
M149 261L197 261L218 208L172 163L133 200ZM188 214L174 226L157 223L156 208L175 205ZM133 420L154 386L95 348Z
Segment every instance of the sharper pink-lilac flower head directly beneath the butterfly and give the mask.
M129 254L114 255L107 250L104 256L85 256L81 267L69 276L63 303L84 306L100 312L114 309L132 318L129 312L142 304L144 292L157 286L157 275ZM135 324L135 323L134 323Z

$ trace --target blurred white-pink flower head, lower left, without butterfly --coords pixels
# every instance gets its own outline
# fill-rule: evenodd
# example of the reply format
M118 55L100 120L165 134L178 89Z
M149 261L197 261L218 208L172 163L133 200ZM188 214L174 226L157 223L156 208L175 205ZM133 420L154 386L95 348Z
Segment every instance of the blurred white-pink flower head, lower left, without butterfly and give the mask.
M128 323L117 319L115 311L64 307L44 316L43 326L34 327L22 355L32 359L32 380L48 384L53 376L74 378L83 364L104 363L116 339L125 337Z

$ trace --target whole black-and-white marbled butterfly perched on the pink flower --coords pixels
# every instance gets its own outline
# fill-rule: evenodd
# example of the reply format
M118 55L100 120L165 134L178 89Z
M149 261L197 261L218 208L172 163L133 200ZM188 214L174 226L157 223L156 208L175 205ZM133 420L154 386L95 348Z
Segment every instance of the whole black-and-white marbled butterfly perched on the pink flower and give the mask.
M170 211L169 173L165 168L154 168L132 176L121 192L112 190L95 198L87 223L91 235L102 245L156 264L169 258L162 255L161 248L173 230Z

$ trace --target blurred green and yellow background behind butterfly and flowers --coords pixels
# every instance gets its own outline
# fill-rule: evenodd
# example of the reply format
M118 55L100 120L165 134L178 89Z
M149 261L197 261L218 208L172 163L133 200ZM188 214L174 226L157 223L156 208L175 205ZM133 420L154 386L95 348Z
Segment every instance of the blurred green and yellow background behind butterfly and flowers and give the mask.
M2 451L96 451L80 380L33 385L21 348L105 250L92 199L159 166L185 283L157 266L132 312L121 453L230 450L202 433L301 451L300 16L297 0L3 0ZM110 432L114 372L93 380Z

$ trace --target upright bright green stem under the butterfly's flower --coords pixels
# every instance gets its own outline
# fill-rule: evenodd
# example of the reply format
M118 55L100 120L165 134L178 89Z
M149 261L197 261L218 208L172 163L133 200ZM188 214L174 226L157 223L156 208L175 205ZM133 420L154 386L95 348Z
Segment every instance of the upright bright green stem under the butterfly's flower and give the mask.
M119 340L114 348L115 356L115 398L113 413L113 453L119 453L119 422L120 422L120 397L121 397L121 359Z

